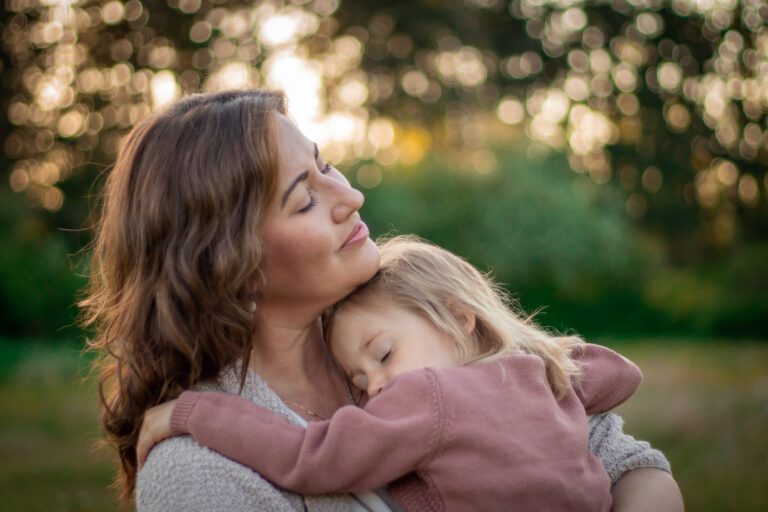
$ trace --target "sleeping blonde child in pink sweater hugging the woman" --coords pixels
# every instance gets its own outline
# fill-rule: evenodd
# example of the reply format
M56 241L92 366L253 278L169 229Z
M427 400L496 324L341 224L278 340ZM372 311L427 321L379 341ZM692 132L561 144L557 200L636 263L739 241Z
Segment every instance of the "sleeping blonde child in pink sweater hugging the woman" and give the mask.
M519 317L499 286L439 247L397 237L381 256L326 317L364 408L304 429L244 398L185 392L149 446L191 434L304 494L390 483L406 510L610 510L587 414L626 400L638 368Z

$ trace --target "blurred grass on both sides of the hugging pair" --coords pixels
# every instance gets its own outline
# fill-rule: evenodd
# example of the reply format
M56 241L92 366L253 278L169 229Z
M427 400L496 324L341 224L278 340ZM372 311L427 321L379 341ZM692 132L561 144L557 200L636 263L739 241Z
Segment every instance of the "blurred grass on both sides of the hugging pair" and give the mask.
M609 344L645 374L625 430L667 454L687 509L768 509L768 343ZM0 339L0 510L116 509L83 366L71 344Z

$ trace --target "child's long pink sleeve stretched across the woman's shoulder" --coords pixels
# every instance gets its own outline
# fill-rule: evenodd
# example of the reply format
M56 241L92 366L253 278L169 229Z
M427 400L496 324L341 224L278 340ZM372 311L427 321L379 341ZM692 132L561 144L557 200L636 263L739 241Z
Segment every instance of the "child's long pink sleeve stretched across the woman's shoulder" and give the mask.
M437 379L426 370L399 376L365 409L342 407L306 429L242 397L189 391L171 425L286 489L355 492L428 460L440 441L441 408Z

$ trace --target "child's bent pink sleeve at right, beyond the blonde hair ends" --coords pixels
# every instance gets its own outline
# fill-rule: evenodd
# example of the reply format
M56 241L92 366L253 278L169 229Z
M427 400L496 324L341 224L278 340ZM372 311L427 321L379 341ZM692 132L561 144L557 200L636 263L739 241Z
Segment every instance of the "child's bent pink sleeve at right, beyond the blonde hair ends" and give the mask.
M577 347L573 357L581 367L576 394L587 414L599 414L624 403L637 391L643 374L632 361L600 345Z

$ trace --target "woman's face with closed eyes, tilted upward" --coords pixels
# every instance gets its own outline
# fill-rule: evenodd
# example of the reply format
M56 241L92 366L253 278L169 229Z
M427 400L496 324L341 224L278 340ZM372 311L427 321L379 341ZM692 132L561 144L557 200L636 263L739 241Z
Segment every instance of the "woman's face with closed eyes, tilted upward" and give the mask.
M280 175L261 231L259 303L319 314L376 273L379 251L358 213L363 195L286 116L276 124Z

